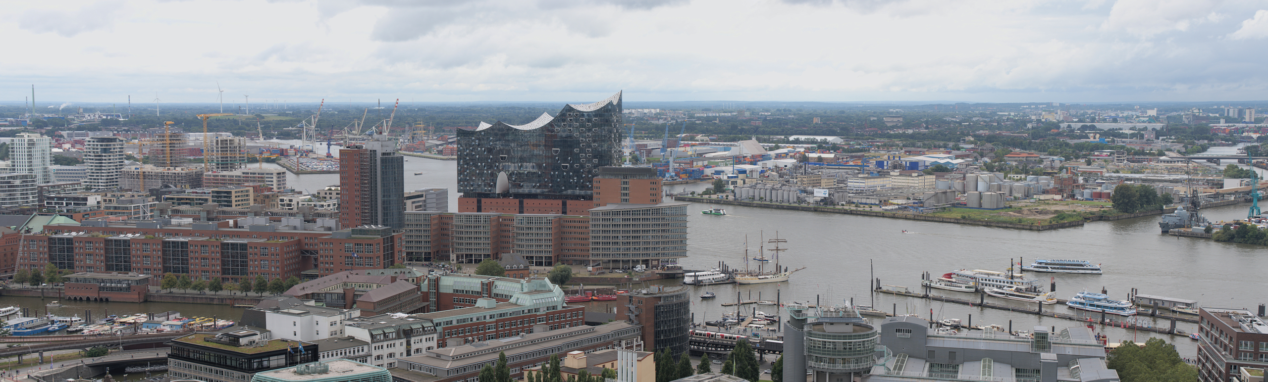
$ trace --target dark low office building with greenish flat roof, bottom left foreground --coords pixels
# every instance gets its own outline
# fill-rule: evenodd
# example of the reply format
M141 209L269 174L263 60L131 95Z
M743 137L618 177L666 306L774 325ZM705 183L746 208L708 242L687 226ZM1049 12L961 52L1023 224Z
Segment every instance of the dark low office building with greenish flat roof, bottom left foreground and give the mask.
M167 342L172 379L245 382L259 372L317 362L317 345L273 339L269 330L233 326Z

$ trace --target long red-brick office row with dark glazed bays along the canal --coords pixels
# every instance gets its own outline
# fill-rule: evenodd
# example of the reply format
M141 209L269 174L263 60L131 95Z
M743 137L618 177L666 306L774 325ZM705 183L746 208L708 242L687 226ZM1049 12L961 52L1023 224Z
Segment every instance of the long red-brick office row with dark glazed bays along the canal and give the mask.
M184 273L195 280L219 277L289 278L308 269L333 274L349 269L382 269L401 262L402 234L385 226L342 230L301 230L281 223L237 226L240 220L164 225L157 221L46 225L24 235L19 269L53 263L75 272ZM328 229L321 228L321 229ZM152 282L157 282L153 280Z

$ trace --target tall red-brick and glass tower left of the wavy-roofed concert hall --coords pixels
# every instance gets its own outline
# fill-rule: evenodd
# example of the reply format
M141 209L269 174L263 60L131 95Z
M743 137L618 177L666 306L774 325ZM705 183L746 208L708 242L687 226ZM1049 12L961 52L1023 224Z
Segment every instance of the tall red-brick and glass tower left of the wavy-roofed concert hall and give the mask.
M375 134L340 149L339 166L341 225L404 229L404 157L396 142Z

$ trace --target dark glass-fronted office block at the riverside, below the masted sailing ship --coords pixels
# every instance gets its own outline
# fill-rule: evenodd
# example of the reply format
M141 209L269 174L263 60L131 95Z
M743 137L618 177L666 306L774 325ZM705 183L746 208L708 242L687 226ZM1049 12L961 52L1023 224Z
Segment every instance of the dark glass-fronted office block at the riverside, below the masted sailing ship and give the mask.
M687 353L691 339L691 297L687 287L658 285L630 291L616 319L643 326L643 343L648 349L670 349L675 358ZM618 300L620 301L620 300Z

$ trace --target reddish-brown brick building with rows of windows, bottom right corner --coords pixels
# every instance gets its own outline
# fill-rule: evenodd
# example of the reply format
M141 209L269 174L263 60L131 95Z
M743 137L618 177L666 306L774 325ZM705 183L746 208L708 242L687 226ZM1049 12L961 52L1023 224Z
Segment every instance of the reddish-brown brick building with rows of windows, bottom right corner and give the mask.
M1198 309L1198 381L1225 382L1241 368L1268 367L1268 325L1243 309Z

